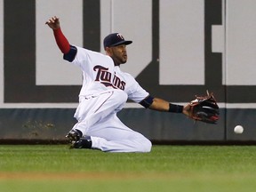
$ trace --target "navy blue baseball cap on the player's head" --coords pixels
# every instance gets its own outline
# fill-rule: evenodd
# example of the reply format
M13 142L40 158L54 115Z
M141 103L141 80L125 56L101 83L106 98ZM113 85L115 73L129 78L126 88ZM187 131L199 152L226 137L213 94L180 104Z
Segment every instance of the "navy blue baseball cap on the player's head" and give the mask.
M120 44L132 44L132 41L126 41L124 36L120 33L113 33L104 38L103 44L104 49L106 49L106 47L117 46Z

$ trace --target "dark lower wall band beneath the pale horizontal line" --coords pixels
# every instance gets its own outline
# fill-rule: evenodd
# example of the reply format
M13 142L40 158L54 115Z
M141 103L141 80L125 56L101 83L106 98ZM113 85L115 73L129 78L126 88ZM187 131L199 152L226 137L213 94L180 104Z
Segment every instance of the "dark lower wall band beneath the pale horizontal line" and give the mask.
M65 140L76 120L75 109L8 108L0 110L0 139ZM118 116L132 129L156 141L255 141L255 109L220 109L218 124L204 124L179 114L125 108ZM226 121L228 119L228 121ZM244 133L233 132L243 124Z

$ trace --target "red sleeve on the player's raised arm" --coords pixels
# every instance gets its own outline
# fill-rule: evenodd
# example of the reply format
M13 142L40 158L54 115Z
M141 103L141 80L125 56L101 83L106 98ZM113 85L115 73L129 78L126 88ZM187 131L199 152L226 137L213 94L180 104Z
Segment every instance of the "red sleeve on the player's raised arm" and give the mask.
M70 50L70 44L68 43L68 39L63 35L60 28L53 29L53 34L58 44L60 51L64 54L67 54Z

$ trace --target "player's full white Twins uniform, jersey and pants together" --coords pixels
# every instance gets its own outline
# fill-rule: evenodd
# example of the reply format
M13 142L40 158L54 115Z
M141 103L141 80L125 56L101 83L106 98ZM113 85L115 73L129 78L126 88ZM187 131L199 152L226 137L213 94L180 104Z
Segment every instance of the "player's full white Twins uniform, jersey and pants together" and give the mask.
M72 129L90 137L92 148L108 152L148 152L151 142L140 132L124 125L116 113L127 99L140 102L148 92L128 73L124 73L108 55L77 47L72 61L83 71L83 86Z

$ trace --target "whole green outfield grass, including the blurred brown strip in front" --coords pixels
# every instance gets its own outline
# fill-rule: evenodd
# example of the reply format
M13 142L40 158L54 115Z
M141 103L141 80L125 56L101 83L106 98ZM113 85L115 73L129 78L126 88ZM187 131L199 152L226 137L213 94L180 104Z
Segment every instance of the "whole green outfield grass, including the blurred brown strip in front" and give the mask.
M146 154L0 146L1 192L255 189L255 146L153 146Z

